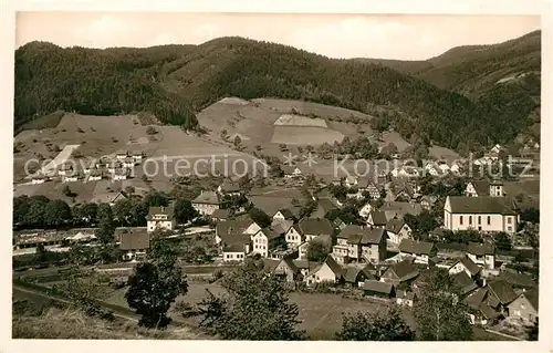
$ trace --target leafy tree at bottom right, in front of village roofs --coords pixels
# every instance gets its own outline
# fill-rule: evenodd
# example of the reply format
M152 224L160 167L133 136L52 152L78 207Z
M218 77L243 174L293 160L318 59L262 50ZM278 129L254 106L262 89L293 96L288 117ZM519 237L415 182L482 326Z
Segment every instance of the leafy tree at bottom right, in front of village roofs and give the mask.
M470 341L472 328L459 289L444 269L430 272L414 304L417 332L424 341Z

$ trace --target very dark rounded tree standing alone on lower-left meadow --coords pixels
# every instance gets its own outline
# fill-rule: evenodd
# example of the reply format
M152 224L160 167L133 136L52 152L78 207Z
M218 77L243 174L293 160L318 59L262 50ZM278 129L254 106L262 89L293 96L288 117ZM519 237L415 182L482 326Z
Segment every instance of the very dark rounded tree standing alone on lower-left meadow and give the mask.
M153 236L148 259L137 264L125 293L128 305L142 315L139 325L163 329L170 322L170 304L188 292L178 250L167 239Z

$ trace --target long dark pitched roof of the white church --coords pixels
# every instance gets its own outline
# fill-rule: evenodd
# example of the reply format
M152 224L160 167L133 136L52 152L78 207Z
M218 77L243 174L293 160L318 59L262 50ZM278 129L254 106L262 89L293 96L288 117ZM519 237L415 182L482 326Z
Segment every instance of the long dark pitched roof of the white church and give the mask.
M448 196L452 214L499 214L515 216L517 212L509 205L505 197L479 196Z

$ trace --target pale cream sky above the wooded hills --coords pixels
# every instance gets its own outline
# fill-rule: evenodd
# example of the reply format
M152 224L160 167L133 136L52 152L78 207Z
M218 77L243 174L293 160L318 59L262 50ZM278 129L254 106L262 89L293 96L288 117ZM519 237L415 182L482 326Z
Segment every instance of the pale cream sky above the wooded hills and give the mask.
M18 12L15 46L201 44L240 35L330 58L425 60L458 45L493 44L540 29L538 15Z

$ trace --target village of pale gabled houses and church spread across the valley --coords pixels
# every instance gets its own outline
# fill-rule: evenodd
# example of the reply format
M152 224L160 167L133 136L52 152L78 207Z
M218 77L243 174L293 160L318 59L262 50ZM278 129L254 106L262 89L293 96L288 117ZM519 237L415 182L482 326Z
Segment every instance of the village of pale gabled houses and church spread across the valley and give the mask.
M498 164L500 152L495 146L488 159L473 165ZM143 154L121 152L82 174L111 174L116 180L144 159ZM213 178L211 188L202 187L189 200L194 217L186 224L177 220L176 203L168 196L167 203L147 208L139 221L144 226L118 227L113 261L123 270L108 273L125 282L133 263L146 258L152 238L161 236L194 248L187 261L206 266L209 273L253 257L294 290L409 309L428 274L445 269L458 284L473 325L518 336L538 320L539 219L528 216L528 209L539 209L539 201L513 195L520 188L510 188L501 177L461 178L468 167L441 162L369 177L317 179L300 164L283 164L282 174L269 180ZM32 183L53 183L55 177L77 181L71 179L77 173L64 164L50 180L40 175ZM539 185L539 179L525 183ZM147 197L133 194L121 190L107 203L116 208L122 200ZM33 273L32 266L18 268L15 260L32 257L39 248L63 253L97 242L95 228L59 228L14 231L17 276ZM34 268L36 273L41 267Z

